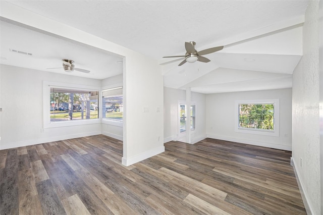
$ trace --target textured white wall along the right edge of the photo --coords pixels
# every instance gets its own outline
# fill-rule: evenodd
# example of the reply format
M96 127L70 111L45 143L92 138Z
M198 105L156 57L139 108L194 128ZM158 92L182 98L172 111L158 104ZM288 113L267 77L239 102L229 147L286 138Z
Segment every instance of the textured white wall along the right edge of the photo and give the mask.
M303 57L293 73L293 164L304 205L310 214L320 211L319 155L319 26L318 1L309 1L303 26ZM322 86L321 86L322 87ZM302 166L301 166L302 158ZM310 210L310 211L308 211Z

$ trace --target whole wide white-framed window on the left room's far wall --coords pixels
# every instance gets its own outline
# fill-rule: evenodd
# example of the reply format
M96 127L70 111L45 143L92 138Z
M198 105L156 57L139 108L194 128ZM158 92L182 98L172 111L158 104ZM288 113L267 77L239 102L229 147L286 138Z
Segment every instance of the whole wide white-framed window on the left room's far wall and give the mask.
M99 89L43 81L43 128L100 123Z

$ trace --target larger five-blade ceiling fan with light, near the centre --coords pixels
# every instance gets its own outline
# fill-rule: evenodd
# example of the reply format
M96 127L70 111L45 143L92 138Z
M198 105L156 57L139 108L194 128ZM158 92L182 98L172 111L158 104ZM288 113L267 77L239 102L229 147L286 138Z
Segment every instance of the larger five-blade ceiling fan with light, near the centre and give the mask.
M196 43L194 41L185 42L186 54L183 56L167 56L163 58L183 58L184 57L185 58L184 61L182 61L178 66L182 66L186 62L194 63L196 61L199 61L199 62L207 63L207 62L210 62L210 60L205 57L202 57L202 55L207 55L209 53L213 53L223 49L223 46L218 46L218 47L212 47L201 51L197 51L195 49L195 44ZM182 59L178 59L178 60L182 60Z

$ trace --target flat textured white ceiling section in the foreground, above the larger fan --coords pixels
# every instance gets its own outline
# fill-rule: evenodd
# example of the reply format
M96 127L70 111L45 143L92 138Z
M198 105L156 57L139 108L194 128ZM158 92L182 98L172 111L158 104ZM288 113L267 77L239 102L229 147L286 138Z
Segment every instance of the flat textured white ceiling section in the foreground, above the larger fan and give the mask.
M304 1L12 1L159 59L305 14ZM223 44L225 45L225 44ZM176 47L176 48L173 48Z

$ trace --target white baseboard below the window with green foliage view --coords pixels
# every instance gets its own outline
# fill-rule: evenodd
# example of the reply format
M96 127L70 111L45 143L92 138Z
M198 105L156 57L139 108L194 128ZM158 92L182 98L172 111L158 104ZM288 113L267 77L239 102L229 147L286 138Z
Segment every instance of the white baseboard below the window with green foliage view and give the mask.
M233 138L233 137L225 137L225 136L214 135L214 134L206 134L206 136L208 138L212 138L212 139L226 140L226 141L245 143L245 144L250 144L250 145L263 146L263 147L268 147L268 148L276 148L276 149L281 149L281 150L292 151L291 145L280 145L280 144L274 144L274 143L268 143L268 142L260 142L260 141L245 140L245 139L239 139L239 138Z

